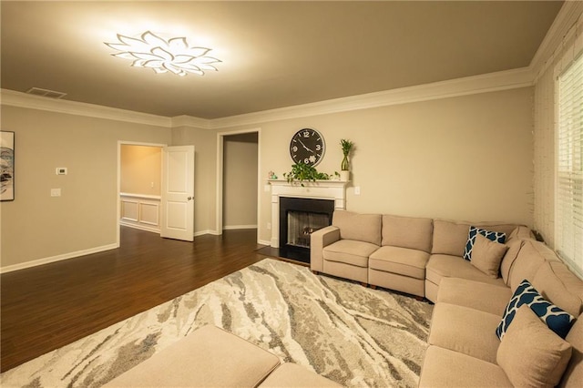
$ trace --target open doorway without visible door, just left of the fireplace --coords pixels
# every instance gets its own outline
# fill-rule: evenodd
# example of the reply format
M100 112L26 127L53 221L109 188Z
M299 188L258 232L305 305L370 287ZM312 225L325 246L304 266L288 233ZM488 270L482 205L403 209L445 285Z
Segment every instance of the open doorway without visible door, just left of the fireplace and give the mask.
M258 229L259 129L218 134L217 229ZM258 230L259 239L259 230Z

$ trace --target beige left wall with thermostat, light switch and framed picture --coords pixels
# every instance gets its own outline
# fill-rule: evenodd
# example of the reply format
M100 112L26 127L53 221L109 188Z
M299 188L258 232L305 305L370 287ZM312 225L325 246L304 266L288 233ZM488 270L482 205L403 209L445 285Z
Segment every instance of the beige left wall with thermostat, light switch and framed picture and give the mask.
M116 244L118 140L168 144L170 130L22 107L1 113L2 129L15 131L16 174L15 200L0 204L2 267Z

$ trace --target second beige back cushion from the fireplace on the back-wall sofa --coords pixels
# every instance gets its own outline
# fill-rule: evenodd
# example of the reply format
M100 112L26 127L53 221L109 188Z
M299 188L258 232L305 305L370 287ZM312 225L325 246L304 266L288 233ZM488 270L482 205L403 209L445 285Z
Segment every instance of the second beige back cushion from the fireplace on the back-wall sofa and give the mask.
M383 245L431 252L434 220L383 216Z

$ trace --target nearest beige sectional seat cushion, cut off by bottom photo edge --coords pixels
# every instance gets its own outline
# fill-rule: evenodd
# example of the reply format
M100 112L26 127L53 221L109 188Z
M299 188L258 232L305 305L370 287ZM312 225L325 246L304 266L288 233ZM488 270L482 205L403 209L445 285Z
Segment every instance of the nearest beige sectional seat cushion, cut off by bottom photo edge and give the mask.
M512 387L506 373L492 362L429 346L419 387Z

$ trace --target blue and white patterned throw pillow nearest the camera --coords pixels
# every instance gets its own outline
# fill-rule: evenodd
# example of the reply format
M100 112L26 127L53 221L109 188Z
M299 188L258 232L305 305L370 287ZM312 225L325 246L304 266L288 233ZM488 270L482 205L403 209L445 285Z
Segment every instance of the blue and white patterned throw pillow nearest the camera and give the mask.
M514 320L518 307L523 304L526 304L532 311L535 311L538 318L547 323L548 328L553 332L556 332L561 338L567 336L568 331L571 329L571 326L575 321L574 316L567 311L559 309L553 303L543 298L537 289L525 279L520 282L517 291L514 291L512 299L510 299L506 306L506 311L504 311L502 321L496 328L496 335L500 341L502 341L502 337L504 337L504 334L508 330L508 326L510 326L510 323Z

